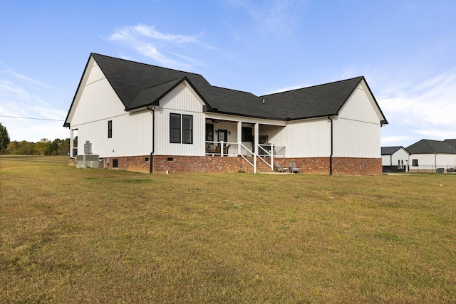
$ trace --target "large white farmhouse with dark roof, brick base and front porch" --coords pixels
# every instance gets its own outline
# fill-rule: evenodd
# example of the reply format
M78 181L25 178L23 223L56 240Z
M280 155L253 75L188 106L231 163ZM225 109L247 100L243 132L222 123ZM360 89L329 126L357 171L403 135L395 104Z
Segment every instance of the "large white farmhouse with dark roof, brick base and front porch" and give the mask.
M387 123L363 77L256 96L92 53L64 126L110 169L381 174Z

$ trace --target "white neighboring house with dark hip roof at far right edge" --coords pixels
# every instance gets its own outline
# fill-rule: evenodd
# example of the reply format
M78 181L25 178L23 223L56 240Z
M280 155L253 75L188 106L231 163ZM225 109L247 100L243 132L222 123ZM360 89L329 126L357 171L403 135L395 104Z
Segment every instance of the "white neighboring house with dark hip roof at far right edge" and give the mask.
M456 168L456 140L420 140L407 147L410 172L453 172Z

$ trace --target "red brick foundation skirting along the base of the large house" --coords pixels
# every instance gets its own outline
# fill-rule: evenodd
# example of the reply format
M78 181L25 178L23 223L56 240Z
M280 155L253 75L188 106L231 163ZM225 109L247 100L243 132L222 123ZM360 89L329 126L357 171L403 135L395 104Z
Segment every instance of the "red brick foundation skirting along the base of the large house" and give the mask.
M117 159L117 168L113 167ZM329 157L277 158L283 167L289 162L296 162L304 174L329 174ZM259 161L261 162L261 161ZM68 164L75 166L76 159ZM150 155L132 157L111 157L104 159L105 169L120 169L134 172L150 172ZM258 172L271 172L271 169L258 168ZM154 155L152 173L229 173L254 171L253 167L242 157L220 156L175 156ZM333 157L334 175L378 175L382 174L380 158Z

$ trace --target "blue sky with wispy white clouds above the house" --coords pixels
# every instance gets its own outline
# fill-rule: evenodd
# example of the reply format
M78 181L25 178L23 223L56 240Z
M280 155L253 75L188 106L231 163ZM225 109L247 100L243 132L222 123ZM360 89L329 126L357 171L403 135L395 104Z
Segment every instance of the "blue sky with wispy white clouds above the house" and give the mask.
M454 0L4 0L0 122L11 140L69 137L93 52L256 95L363 75L383 146L456 138L455 16Z

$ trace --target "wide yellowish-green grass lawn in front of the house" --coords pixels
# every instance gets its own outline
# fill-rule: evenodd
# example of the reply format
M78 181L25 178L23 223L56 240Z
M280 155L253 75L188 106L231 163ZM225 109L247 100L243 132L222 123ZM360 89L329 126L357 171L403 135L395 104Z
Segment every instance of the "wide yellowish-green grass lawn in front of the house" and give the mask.
M455 189L0 157L0 303L455 303Z

